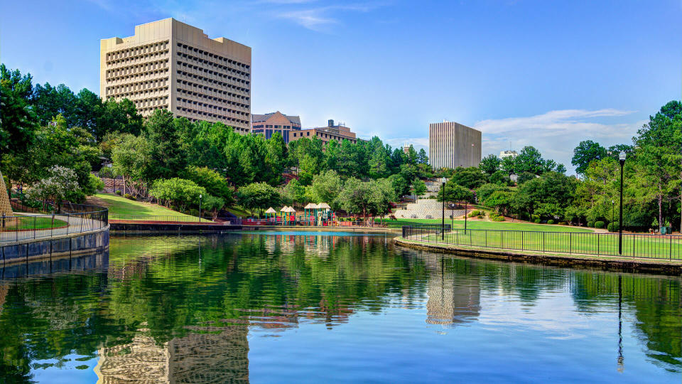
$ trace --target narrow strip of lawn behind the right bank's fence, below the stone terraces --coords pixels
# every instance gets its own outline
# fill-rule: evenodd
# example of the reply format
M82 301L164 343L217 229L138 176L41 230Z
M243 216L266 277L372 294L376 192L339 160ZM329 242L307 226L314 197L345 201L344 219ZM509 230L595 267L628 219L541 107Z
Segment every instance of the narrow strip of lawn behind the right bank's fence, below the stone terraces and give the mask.
M445 220L445 224L452 223L452 220ZM418 224L440 224L440 219L398 219L386 220L386 224L391 228L400 228L403 225ZM455 220L453 228L464 228L464 220ZM486 230L534 230L539 232L580 232L592 233L590 228L582 227L563 227L548 224L533 223L511 223L510 221L467 221L467 229L486 229Z

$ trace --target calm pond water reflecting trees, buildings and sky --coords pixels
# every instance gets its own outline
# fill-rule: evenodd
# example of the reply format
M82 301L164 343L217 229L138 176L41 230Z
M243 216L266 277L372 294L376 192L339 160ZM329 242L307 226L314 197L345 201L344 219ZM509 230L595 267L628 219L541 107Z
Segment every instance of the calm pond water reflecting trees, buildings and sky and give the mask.
M317 233L112 237L0 273L0 383L682 381L674 277Z

